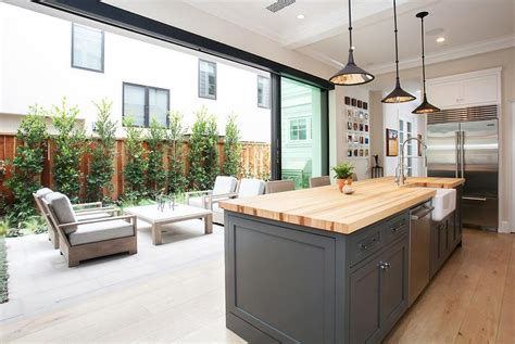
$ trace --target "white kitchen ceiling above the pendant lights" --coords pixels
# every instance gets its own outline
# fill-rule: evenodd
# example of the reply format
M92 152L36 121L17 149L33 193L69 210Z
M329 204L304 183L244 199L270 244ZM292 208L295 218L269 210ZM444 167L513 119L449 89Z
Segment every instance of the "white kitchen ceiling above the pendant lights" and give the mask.
M186 22L215 16L264 36L282 48L296 50L339 68L347 61L348 12L346 0L297 0L272 13L274 0L108 0L140 15L187 26ZM152 11L160 8L160 14ZM390 0L354 0L353 33L356 62L373 73L392 71L393 13ZM185 8L188 11L185 12ZM420 27L415 14L428 11L426 56L440 62L515 44L515 0L398 0L401 67L419 64ZM184 17L187 13L187 18ZM297 15L303 14L303 20ZM183 17L181 17L183 16ZM186 28L187 27L183 27ZM439 35L430 35L439 30ZM198 33L210 36L209 31ZM235 35L237 33L234 33ZM445 37L444 43L436 38Z

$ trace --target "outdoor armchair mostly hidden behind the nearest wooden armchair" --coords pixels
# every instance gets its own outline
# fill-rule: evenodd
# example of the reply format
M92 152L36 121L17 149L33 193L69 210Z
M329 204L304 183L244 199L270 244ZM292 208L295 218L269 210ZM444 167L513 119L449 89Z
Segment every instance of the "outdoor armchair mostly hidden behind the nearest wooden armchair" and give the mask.
M36 191L35 193L33 193L33 196L34 196L34 200L36 202L36 206L39 213L47 221L49 240L52 243L53 249L58 250L59 249L58 230L52 224L52 221L50 220L49 214L42 204L42 200L52 193L54 192L50 190L49 188L42 188ZM120 208L112 207L112 206L102 206L101 202L75 204L75 205L72 205L72 208L78 221L120 215Z

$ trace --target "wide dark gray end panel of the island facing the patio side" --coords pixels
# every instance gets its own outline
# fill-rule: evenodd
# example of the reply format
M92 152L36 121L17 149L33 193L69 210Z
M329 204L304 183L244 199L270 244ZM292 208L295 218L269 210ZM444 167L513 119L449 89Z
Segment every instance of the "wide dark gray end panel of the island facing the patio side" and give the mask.
M227 317L250 326L228 328L247 340L258 329L266 334L259 343L335 343L336 239L261 219L226 220Z

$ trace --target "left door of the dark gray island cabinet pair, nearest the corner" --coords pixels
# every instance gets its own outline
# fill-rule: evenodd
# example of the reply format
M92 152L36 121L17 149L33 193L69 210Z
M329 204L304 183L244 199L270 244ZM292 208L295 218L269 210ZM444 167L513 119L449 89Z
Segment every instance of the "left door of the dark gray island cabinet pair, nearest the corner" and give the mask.
M380 255L360 265L350 276L349 343L377 343L381 337Z

